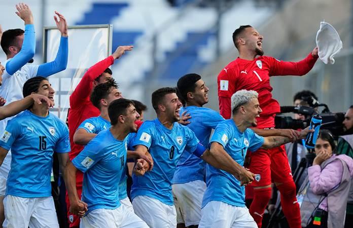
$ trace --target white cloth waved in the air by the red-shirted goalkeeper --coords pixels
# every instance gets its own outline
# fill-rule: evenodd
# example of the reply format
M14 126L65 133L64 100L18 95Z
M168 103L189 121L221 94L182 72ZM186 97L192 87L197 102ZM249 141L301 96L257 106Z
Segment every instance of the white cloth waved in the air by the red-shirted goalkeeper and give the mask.
M333 57L341 51L342 41L336 29L329 23L322 21L320 29L316 33L316 46L319 49L319 58L325 64L334 64Z

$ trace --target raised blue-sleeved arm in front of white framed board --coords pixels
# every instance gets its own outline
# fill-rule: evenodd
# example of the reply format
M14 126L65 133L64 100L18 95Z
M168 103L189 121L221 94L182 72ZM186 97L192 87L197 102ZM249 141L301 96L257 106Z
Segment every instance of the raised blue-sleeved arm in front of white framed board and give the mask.
M39 65L38 67L38 76L48 77L54 73L60 72L66 69L67 66L67 57L68 57L68 34L67 34L67 23L64 16L55 11L54 20L56 23L56 27L59 29L61 33L60 38L60 46L59 50L56 54L55 60L52 62L47 62Z

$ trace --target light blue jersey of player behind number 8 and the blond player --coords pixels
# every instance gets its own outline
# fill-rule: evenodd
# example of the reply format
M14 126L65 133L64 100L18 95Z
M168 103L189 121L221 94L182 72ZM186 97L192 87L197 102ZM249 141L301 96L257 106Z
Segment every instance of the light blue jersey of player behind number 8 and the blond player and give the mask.
M188 106L180 109L180 113L190 113L190 128L200 140L200 143L207 147L212 129L215 129L224 118L215 110L205 107ZM205 162L193 154L183 153L177 165L173 177L173 184L187 183L194 180L204 180Z

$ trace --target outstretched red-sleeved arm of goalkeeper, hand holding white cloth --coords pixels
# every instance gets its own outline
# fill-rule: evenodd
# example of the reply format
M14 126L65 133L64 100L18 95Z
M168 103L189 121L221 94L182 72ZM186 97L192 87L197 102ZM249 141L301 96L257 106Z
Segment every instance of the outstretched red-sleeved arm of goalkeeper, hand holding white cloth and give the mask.
M285 62L271 58L270 75L304 75L312 69L319 58L317 52L317 47L315 47L305 59L299 62Z

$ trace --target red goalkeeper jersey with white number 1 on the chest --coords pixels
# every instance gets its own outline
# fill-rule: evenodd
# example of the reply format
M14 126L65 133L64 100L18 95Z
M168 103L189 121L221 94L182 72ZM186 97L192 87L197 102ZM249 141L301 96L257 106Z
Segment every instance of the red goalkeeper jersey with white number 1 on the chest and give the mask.
M259 93L261 116L273 117L280 111L279 103L272 98L270 77L274 75L304 75L314 66L317 58L311 53L299 62L284 62L273 57L260 56L254 60L237 58L218 75L218 98L220 113L225 119L231 117L231 97L242 89ZM264 120L265 121L265 120ZM261 123L258 123L259 125Z

